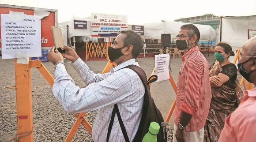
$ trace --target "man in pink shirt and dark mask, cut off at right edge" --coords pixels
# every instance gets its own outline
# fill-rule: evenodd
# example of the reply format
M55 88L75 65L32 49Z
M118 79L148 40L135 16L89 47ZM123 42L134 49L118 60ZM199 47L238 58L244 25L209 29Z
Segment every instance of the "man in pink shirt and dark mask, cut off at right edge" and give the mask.
M256 86L256 37L245 42L237 64L239 73ZM226 118L218 142L256 141L256 88L245 91L238 108Z

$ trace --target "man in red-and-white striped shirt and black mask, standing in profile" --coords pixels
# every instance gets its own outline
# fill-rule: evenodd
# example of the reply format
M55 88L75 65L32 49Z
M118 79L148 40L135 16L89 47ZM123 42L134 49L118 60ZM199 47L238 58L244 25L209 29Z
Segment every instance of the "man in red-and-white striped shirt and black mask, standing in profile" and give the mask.
M211 102L209 63L197 46L200 32L193 24L181 26L176 45L185 54L177 84L173 142L203 142L203 127Z

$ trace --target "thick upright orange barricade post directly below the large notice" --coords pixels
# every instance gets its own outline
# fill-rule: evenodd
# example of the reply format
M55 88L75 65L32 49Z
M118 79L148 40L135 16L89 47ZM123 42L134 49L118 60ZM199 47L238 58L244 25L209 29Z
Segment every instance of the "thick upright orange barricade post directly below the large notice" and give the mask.
M33 142L32 90L30 64L15 59L17 134L19 142Z

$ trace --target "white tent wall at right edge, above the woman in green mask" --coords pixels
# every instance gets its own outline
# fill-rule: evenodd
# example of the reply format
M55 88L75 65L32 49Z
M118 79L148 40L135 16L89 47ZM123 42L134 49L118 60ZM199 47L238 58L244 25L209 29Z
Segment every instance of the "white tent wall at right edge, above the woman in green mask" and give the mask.
M222 16L217 30L217 41L223 41L232 46L233 51L241 49L248 40L248 30L256 30L256 15L252 16ZM230 56L233 62L234 57Z

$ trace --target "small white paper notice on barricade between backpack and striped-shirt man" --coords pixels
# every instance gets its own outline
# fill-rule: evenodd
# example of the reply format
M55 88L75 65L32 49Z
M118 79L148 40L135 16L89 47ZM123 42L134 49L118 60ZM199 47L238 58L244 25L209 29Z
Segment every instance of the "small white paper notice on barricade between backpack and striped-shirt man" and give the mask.
M155 55L155 75L158 76L157 82L167 80L169 76L169 54L159 54Z

